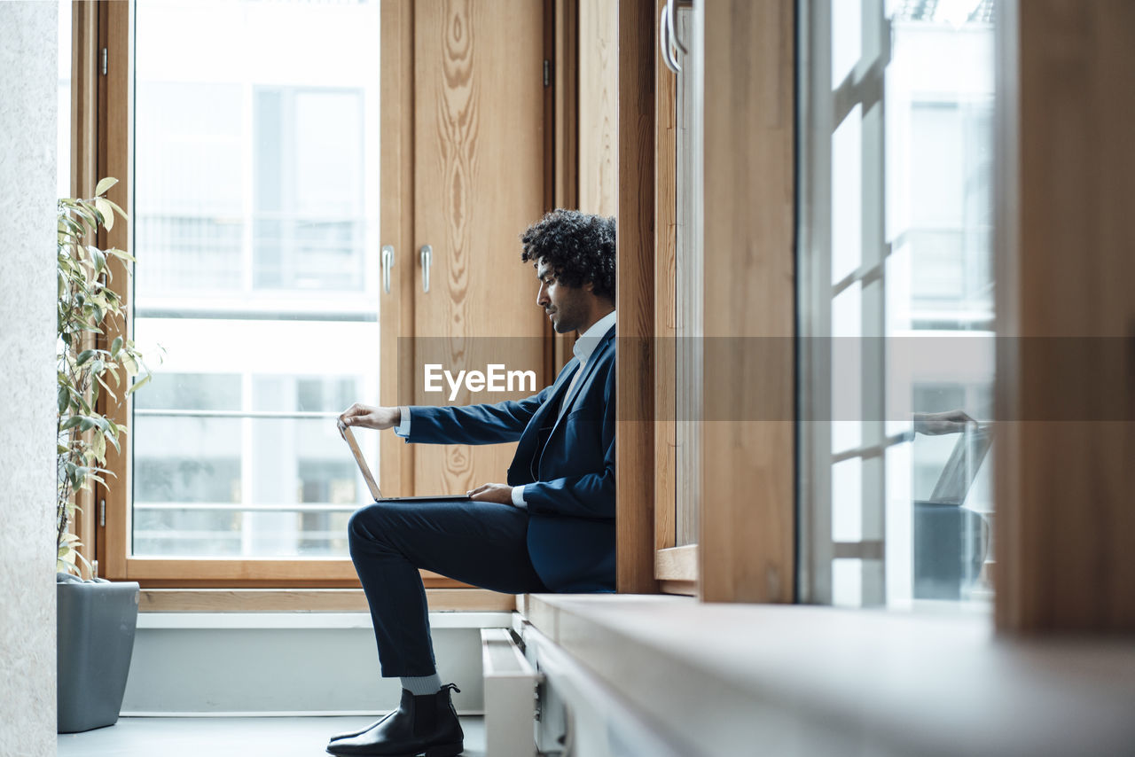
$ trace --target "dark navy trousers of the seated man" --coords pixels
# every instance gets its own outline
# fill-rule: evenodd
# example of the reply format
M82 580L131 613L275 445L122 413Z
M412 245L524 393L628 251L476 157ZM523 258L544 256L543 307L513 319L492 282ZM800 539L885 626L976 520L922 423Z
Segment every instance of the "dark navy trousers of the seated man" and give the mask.
M351 516L351 560L384 676L432 675L419 569L494 591L547 591L528 557L528 512L491 502L381 502Z

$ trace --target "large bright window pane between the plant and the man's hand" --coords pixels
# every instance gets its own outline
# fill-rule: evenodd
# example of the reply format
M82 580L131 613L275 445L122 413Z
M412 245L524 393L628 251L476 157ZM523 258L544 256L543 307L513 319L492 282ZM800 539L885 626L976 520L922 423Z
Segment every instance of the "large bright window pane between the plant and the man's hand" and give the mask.
M134 554L346 556L369 493L334 417L378 396L378 2L151 0L135 26Z

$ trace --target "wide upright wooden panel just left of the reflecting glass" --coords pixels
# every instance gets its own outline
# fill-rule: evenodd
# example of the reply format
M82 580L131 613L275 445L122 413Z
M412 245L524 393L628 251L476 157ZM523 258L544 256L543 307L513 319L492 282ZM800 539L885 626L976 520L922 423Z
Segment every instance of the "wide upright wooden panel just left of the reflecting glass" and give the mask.
M706 602L792 600L792 9L705 7Z

